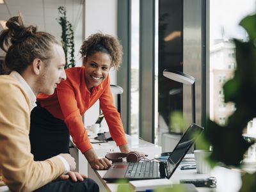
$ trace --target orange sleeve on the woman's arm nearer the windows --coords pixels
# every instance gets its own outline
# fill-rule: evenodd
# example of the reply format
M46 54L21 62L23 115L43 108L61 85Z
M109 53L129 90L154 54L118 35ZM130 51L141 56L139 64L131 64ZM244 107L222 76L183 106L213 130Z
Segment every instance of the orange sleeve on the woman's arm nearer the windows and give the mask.
M104 114L109 127L111 137L116 142L116 145L124 145L127 143L125 138L124 126L120 118L120 113L116 110L113 104L113 96L110 90L110 82L106 85L106 90L100 96L100 108Z

